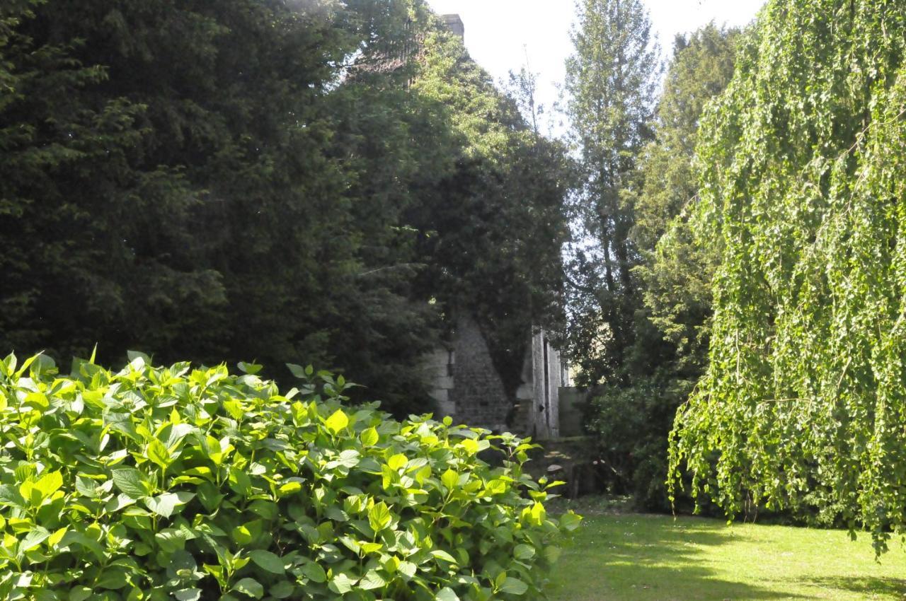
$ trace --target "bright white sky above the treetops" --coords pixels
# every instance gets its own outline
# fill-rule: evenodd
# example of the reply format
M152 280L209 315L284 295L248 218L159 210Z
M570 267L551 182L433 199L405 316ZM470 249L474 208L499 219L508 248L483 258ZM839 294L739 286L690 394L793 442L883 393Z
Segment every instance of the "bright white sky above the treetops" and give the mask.
M750 23L765 0L643 0L660 40L663 56L673 38L714 20ZM438 14L457 13L466 25L466 46L496 81L526 62L538 75L538 101L550 108L564 81L564 61L572 52L573 0L428 0Z

